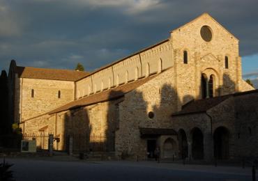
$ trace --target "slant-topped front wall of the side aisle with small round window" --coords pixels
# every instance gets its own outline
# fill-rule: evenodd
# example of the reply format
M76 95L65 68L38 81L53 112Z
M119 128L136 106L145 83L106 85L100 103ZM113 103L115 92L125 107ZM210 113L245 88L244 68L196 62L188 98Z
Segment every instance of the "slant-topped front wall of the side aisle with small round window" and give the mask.
M173 68L162 72L146 84L125 95L119 104L119 129L116 131L116 155L146 157L146 139L141 139L139 127L167 128L170 115L176 111ZM149 118L149 112L154 113Z

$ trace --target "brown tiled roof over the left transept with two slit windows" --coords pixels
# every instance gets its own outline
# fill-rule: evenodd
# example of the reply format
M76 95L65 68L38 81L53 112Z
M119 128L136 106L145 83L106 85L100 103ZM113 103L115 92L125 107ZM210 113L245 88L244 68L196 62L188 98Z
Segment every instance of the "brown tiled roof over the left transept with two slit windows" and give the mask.
M15 68L15 72L20 78L28 79L51 79L60 81L77 81L85 77L89 72L82 72L76 70L61 70L50 68L31 68L20 67Z

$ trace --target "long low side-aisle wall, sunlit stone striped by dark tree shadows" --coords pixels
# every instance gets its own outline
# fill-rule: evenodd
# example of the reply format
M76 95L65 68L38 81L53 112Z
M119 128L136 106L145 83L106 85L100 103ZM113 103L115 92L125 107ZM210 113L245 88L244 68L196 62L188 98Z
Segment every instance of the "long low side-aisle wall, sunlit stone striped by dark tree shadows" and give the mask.
M89 151L89 143L105 144L114 151L114 132L119 127L117 102L103 102L79 109L43 115L20 124L23 134L54 134L54 149L67 150L68 136L73 136L74 150ZM94 142L94 143L95 143ZM92 144L91 144L92 145Z

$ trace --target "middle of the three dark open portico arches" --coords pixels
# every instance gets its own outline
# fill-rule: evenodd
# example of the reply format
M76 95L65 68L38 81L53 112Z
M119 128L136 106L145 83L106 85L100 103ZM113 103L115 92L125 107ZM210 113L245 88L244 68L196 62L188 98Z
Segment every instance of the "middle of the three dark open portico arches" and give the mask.
M192 158L204 158L204 135L201 129L195 127L192 129Z

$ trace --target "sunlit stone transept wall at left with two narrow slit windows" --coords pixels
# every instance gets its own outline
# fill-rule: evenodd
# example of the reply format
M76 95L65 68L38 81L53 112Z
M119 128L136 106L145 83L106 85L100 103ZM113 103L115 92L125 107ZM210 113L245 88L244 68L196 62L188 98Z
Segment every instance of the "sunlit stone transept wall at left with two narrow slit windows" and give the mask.
M33 97L31 90L33 89ZM74 100L74 82L45 79L15 79L15 121L39 116ZM58 97L59 91L61 97Z

